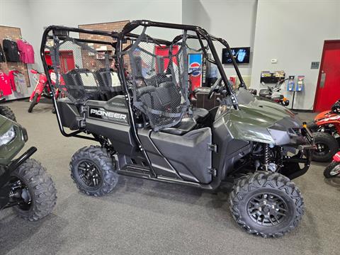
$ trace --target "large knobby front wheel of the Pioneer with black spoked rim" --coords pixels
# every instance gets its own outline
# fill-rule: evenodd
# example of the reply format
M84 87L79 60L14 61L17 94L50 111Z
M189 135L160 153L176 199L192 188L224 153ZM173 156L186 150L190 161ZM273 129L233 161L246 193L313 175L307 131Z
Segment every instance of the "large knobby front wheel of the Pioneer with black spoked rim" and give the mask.
M299 188L287 177L266 171L239 179L229 202L237 223L262 237L283 236L297 227L304 213Z

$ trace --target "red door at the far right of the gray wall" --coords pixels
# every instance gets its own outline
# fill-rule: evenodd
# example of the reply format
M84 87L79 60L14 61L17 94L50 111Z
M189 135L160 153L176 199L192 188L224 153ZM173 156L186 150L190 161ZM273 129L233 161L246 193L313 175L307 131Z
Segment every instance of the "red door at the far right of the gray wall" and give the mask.
M325 40L314 111L327 111L340 99L340 40Z

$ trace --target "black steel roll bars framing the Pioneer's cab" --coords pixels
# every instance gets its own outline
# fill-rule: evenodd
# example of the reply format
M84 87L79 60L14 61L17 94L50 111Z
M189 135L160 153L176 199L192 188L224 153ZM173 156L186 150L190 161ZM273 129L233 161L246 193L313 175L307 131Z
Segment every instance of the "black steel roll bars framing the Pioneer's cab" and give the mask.
M42 34L42 42L41 42L41 45L40 45L40 57L41 57L41 60L42 60L42 66L44 68L45 74L47 74L46 75L47 86L50 87L53 105L54 105L55 110L56 110L57 122L58 122L58 125L59 125L59 128L60 128L60 132L62 132L62 135L66 136L66 137L79 137L79 138L84 138L84 139L87 139L87 140L98 141L95 137L88 137L88 136L84 136L84 135L79 135L79 133L84 132L85 130L79 129L77 131L67 133L67 132L65 132L64 127L62 126L62 121L61 121L60 113L58 111L58 106L57 106L57 98L55 98L55 91L52 88L52 81L51 81L50 75L48 75L48 68L47 68L47 64L45 62L46 40L47 40L47 38L51 38L49 33L52 31L53 35L55 35L55 31L58 31L58 30L63 31L64 30L64 31L75 32L75 33L87 33L87 34L92 34L92 35L108 36L108 37L112 38L113 40L115 40L116 42L107 42L107 41L98 41L98 40L92 41L92 40L87 40L87 39L77 39L77 40L79 40L79 42L98 42L98 43L103 43L103 44L107 44L107 45L112 45L115 48L115 52L120 53L120 52L123 51L123 40L136 40L140 36L140 35L136 35L134 33L131 33L132 30L135 30L135 28L138 28L139 26L172 28L172 29L193 31L194 33L196 33L196 35L187 35L187 38L198 39L200 41L201 47L203 46L203 51L205 49L204 49L204 45L202 43L202 39L206 40L208 42L208 46L210 47L210 50L212 52L212 56L215 60L215 64L217 65L217 69L219 70L221 77L222 77L222 80L225 83L227 92L232 99L233 106L234 106L235 109L237 109L237 110L239 109L238 103L237 103L237 98L234 96L234 91L232 90L231 86L229 86L227 76L225 74L225 71L222 67L222 63L220 62L220 58L217 55L217 51L216 51L215 46L214 46L212 41L218 41L218 42L222 43L222 45L224 45L227 48L227 51L229 52L229 56L232 60L232 64L234 66L234 69L237 72L237 77L239 77L239 81L241 83L240 86L245 87L244 80L242 79L242 75L239 72L239 68L237 67L237 62L234 59L234 56L232 55L230 47L229 47L227 41L225 41L222 38L217 38L213 35L209 35L206 30L204 30L203 28L200 28L199 26L140 20L140 21L132 21L130 23L127 23L120 33L115 32L115 31L107 32L107 31L102 31L102 30L89 30L89 29L84 29L84 28L70 28L70 27L67 27L67 26L49 26L45 29L44 33ZM58 38L63 38L63 35L55 35L55 36L58 36ZM156 42L156 43L161 44L161 45L171 45L174 42L181 40L181 38L183 38L183 35L176 36L176 38L174 38L174 40L168 41L168 40L163 40L163 39L158 39L158 38L151 38L151 37L148 36L147 40L152 41L152 42ZM117 54L116 58L118 60L119 67L120 67L120 68L118 68L118 77L120 78L120 81L123 81L122 84L123 84L123 89L125 91L125 99L127 101L131 102L130 94L129 94L128 87L126 85L126 80L125 80L125 70L124 70L124 67L123 67L123 63L124 63L123 55ZM131 115L132 109L131 109L130 104L129 104L129 107L130 107L130 115ZM134 123L133 116L130 116L130 117L132 117L132 118L130 118L132 120L132 123L131 123L132 127L134 127L134 129L135 129L135 123ZM141 143L140 143L138 136L137 136L137 131L134 130L134 132L135 132L135 139L137 140L137 143L140 144L140 148L142 148Z

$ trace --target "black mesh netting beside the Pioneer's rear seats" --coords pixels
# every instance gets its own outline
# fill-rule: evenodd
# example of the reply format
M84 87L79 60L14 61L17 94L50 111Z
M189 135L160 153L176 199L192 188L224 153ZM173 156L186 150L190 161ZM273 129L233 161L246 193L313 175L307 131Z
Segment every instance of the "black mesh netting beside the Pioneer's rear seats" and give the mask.
M111 45L79 42L77 38L55 38L49 51L55 89L60 89L73 103L89 99L107 101L122 94L118 74L113 70Z

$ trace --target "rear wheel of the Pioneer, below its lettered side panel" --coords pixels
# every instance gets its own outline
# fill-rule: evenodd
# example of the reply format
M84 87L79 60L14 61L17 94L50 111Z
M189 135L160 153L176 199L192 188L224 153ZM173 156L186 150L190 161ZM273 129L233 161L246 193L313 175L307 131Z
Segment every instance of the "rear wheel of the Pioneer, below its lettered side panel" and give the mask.
M69 166L79 191L89 196L110 193L118 183L115 162L105 148L90 146L79 149Z

